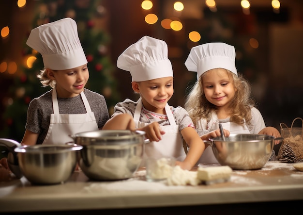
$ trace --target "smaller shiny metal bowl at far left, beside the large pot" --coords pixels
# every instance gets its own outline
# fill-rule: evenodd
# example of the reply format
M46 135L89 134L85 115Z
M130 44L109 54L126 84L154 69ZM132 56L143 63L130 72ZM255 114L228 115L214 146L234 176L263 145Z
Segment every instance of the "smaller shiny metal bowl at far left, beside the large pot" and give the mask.
M76 145L33 145L15 148L23 175L34 184L57 184L72 175L77 163Z

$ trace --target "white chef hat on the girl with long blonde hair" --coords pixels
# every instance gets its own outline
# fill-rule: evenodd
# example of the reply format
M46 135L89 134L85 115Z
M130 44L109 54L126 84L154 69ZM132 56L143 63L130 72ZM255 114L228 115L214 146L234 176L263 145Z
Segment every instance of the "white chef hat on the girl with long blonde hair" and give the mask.
M197 72L197 79L214 68L225 68L238 76L235 58L235 47L226 43L206 43L190 50L185 66L189 71Z

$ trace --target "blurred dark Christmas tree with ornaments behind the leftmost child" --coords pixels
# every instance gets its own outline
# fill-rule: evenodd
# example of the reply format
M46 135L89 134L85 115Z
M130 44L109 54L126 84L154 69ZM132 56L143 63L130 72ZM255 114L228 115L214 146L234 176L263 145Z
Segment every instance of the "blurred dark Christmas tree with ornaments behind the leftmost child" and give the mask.
M36 5L36 16L32 28L53 22L65 17L73 18L78 26L78 34L87 56L90 79L86 88L104 95L109 110L120 100L116 91L116 81L112 74L113 66L107 56L110 39L106 30L100 27L105 17L105 8L100 0L40 0ZM30 33L30 32L29 32ZM31 68L24 67L23 74L16 76L10 88L10 101L7 103L3 119L5 125L0 132L2 138L21 141L25 132L26 115L31 99L41 96L50 87L42 87L36 75L44 67L42 56L25 43L29 36L25 35L22 54L25 58L35 57Z

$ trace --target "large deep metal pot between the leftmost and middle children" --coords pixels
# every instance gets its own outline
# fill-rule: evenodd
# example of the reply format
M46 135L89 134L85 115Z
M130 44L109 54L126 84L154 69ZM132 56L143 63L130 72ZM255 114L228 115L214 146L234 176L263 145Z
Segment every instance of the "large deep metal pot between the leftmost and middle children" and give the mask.
M133 177L143 159L145 132L99 130L72 135L80 150L79 166L91 180L122 180Z

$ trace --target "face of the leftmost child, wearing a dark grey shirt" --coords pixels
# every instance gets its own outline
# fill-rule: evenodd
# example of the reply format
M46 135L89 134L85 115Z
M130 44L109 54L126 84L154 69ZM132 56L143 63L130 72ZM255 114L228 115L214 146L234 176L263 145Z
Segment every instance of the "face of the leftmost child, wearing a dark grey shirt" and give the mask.
M70 98L79 95L90 77L87 64L57 71L46 69L46 72L50 79L56 81L56 91L60 98Z

